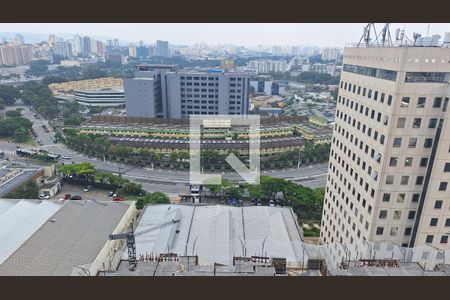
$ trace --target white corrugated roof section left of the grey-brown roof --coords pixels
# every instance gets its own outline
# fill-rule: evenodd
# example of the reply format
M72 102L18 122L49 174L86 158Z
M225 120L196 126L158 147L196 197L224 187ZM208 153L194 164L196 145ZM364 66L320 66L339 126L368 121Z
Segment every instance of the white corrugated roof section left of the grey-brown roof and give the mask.
M0 200L0 265L39 229L61 203L35 200Z

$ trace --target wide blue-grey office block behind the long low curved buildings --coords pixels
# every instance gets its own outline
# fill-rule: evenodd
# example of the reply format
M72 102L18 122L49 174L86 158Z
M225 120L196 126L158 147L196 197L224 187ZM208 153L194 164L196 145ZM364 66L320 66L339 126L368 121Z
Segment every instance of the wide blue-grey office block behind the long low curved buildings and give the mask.
M127 115L171 119L246 115L249 80L243 73L176 71L170 65L137 66L135 78L124 82Z

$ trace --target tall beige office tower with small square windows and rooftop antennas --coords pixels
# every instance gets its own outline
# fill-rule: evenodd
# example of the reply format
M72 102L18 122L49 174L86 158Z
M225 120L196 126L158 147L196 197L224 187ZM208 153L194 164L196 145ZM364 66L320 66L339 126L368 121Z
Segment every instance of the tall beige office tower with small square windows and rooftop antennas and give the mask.
M450 248L449 75L448 48L345 49L323 243Z

